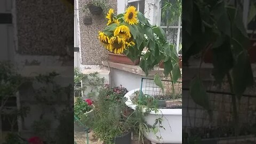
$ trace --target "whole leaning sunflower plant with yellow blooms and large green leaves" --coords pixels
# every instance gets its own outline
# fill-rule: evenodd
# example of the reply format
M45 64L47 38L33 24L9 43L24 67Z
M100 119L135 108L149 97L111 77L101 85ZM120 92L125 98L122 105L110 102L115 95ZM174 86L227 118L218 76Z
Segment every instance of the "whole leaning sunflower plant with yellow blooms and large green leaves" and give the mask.
M166 34L161 27L150 25L145 16L133 6L118 15L110 9L107 19L107 27L99 33L99 39L108 51L125 54L131 60L140 58L140 67L146 76L149 70L162 60L164 60L165 76L170 75L175 67L178 69L173 71L175 74L172 75L178 78L181 76L177 65L178 54L174 46L167 42ZM142 54L145 47L146 52Z

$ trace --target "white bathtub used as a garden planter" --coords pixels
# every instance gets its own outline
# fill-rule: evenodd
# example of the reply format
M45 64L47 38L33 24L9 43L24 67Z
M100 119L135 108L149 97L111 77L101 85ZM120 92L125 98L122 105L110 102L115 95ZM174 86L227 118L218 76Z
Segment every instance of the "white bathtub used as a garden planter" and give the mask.
M131 97L134 96L135 91L140 89L131 90L124 95L127 98L125 104L132 109L135 109L136 105L133 105ZM156 95L153 93L153 90L147 88L142 89L144 94ZM154 88L156 90L156 88ZM158 93L159 94L159 93ZM160 112L161 111L161 112ZM151 141L151 143L182 143L182 109L159 109L158 114L154 111L151 111L149 115L145 117L145 120L148 124L153 125L155 119L158 117L163 117L162 126L164 129L159 129L159 132L156 134L158 137L162 136L162 139L158 140L154 132L149 132L145 134L145 137Z

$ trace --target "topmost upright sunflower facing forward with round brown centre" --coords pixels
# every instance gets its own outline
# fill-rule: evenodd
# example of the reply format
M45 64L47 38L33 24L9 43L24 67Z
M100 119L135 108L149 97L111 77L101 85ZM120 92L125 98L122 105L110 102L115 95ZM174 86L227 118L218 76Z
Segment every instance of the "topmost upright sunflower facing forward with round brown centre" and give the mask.
M137 25L137 13L138 11L136 11L136 7L129 6L124 14L124 21L129 23L129 25Z

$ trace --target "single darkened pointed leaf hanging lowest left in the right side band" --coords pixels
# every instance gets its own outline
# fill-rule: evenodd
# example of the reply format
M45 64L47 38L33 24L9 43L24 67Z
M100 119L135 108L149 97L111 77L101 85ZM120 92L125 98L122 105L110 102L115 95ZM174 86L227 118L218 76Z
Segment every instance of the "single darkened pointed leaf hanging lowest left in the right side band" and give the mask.
M209 97L205 91L202 81L198 76L191 80L189 90L191 98L197 105L202 106L206 110L211 110Z

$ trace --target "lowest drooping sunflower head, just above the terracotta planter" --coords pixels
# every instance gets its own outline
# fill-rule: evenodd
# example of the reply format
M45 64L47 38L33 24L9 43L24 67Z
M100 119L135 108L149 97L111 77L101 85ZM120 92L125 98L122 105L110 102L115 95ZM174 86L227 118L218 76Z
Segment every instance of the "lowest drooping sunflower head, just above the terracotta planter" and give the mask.
M118 36L111 37L110 41L110 51L115 54L123 54L124 50L126 49L126 43L124 38L120 38Z

